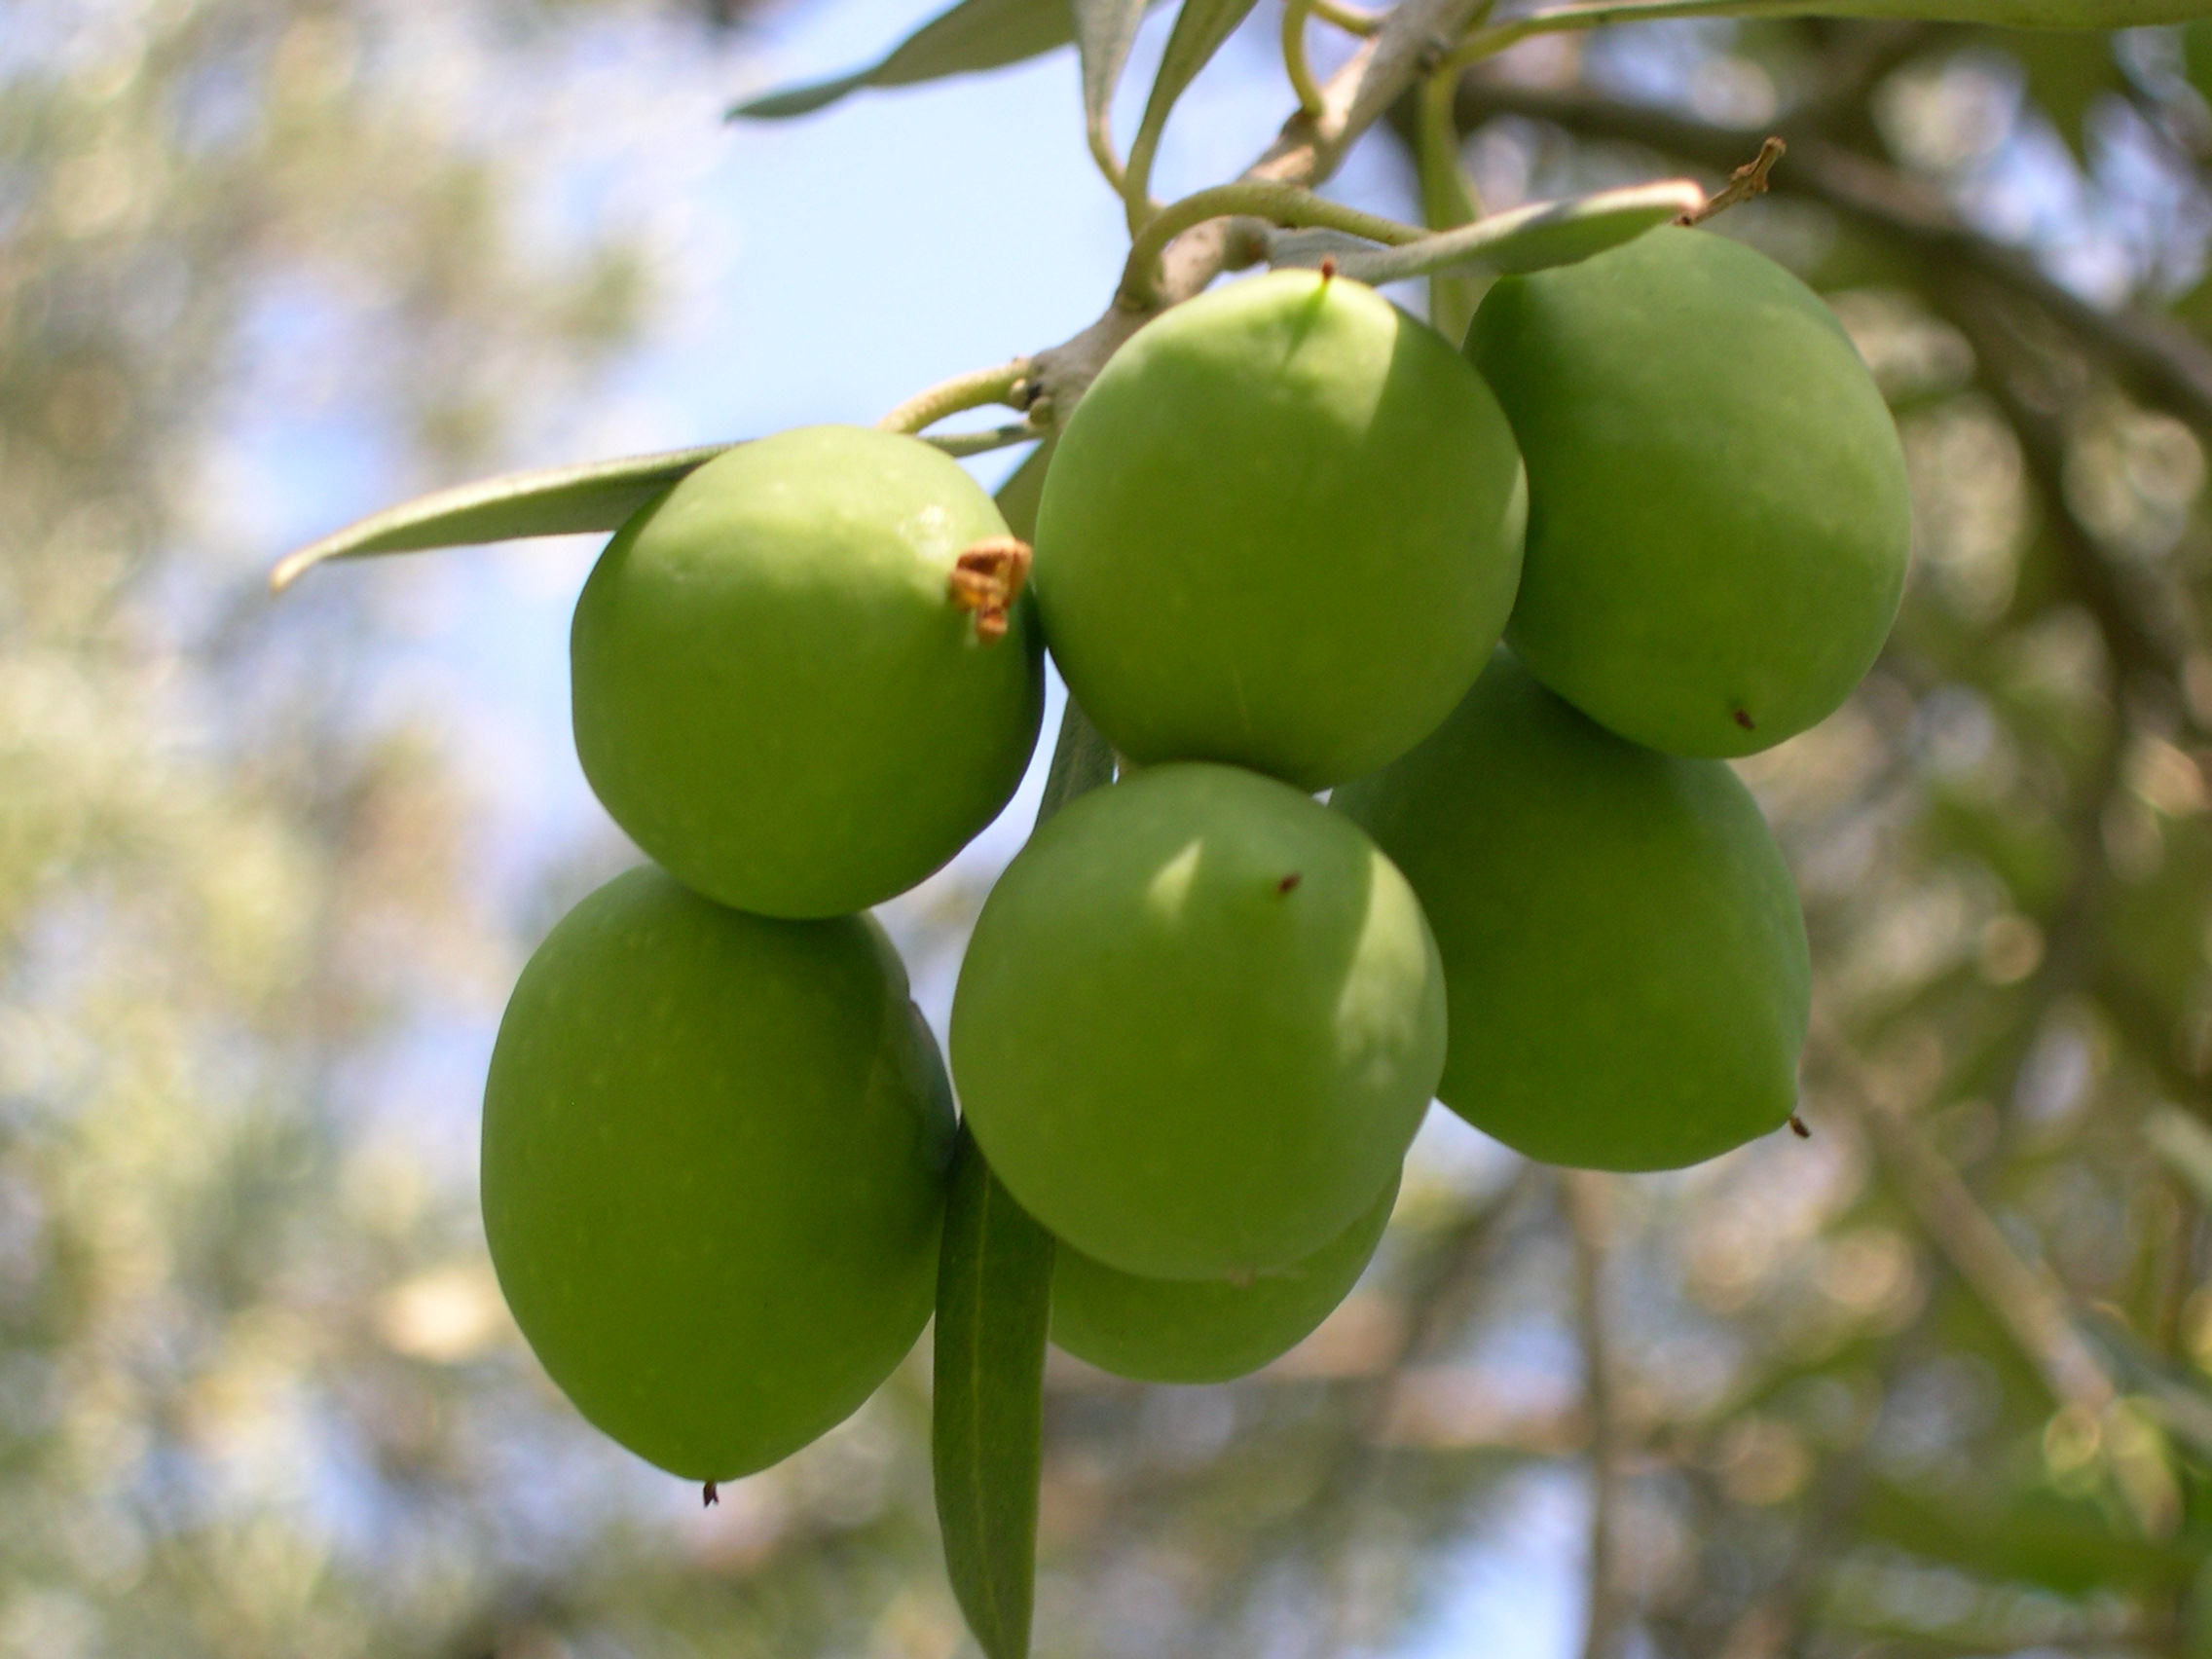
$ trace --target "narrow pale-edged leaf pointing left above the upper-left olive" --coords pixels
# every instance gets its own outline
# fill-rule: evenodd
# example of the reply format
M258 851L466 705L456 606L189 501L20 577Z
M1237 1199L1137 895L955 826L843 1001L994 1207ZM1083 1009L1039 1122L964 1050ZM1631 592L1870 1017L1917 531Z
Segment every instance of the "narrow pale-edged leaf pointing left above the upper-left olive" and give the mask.
M321 542L310 542L270 573L270 586L281 593L323 560L422 553L434 546L476 546L524 535L613 531L657 491L714 460L723 449L730 445L588 460L580 467L507 473L418 495L347 524Z

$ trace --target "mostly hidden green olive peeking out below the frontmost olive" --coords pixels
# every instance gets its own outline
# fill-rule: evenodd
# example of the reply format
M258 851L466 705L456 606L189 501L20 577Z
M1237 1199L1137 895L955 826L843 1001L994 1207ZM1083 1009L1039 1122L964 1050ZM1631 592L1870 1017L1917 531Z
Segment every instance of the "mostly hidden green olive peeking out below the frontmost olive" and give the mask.
M1228 1383L1281 1358L1352 1294L1398 1201L1394 1175L1367 1212L1287 1267L1225 1279L1139 1279L1068 1245L1053 1254L1053 1340L1137 1383Z

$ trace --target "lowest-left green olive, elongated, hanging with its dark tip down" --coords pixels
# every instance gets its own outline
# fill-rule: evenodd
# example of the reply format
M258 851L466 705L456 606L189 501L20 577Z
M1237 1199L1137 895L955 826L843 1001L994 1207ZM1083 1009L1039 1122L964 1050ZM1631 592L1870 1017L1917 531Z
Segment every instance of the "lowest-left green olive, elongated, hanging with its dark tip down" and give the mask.
M951 1088L867 918L633 869L522 969L484 1084L484 1234L608 1436L732 1480L849 1416L936 1294Z

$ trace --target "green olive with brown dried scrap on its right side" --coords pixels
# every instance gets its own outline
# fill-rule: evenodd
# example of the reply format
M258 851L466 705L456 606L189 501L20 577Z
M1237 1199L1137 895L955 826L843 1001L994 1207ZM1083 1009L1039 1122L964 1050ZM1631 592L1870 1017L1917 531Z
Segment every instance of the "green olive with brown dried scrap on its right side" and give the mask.
M799 427L717 456L622 526L577 599L584 776L723 905L843 916L914 887L1037 741L1033 606L984 641L947 597L960 553L1004 533L916 438Z

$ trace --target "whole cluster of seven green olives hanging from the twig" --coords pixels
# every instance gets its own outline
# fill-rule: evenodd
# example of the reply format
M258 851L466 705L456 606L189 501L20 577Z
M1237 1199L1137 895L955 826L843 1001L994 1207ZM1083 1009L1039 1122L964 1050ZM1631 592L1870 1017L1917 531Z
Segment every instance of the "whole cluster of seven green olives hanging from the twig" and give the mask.
M918 440L712 460L575 613L577 752L657 867L500 1026L515 1318L723 1480L920 1332L951 1082L1060 1241L1053 1338L1152 1380L1318 1325L1431 1097L1613 1170L1776 1130L1805 929L1725 757L1849 695L1907 544L1849 338L1697 230L1500 281L1464 352L1327 272L1166 312L1068 420L1033 568ZM1121 781L993 889L949 1082L865 909L1006 803L1046 641Z

